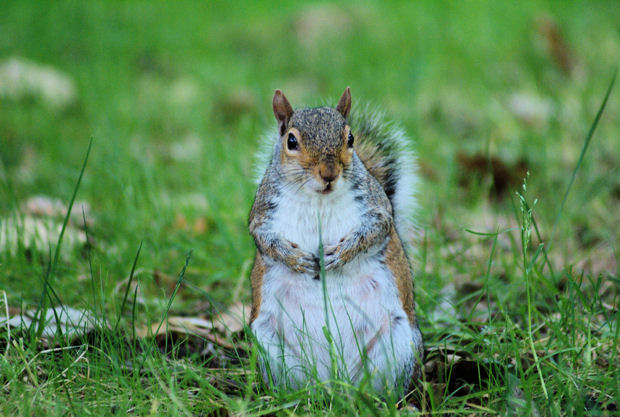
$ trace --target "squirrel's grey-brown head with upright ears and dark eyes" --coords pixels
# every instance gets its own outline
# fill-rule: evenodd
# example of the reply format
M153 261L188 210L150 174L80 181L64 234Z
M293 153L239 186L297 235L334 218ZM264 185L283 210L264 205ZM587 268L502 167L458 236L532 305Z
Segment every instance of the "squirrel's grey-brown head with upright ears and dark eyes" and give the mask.
M336 108L293 110L282 91L273 96L273 113L280 134L280 164L288 180L320 194L342 183L351 165L354 137L347 124L351 90L346 88Z

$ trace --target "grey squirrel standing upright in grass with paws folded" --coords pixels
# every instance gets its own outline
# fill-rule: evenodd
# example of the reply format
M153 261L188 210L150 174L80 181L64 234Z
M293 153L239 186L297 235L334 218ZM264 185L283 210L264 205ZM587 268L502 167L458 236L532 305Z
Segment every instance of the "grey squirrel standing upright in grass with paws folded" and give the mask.
M423 354L405 249L417 183L405 135L378 113L351 112L349 87L335 108L297 110L276 90L273 112L278 132L249 216L263 379L296 389L337 376L402 392Z

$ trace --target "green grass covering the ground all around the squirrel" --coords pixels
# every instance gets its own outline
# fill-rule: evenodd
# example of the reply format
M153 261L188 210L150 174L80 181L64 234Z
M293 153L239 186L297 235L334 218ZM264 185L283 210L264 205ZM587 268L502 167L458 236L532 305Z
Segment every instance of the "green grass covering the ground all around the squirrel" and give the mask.
M598 112L618 15L609 1L5 2L0 67L49 65L76 94L11 98L0 76L0 231L22 225L0 247L0 317L66 305L107 326L51 345L38 323L0 326L0 414L617 412L617 85ZM347 85L416 142L419 388L400 403L342 384L277 392L247 332L233 349L140 333L249 301L273 90L335 104ZM66 227L51 219L62 245L28 243L36 195L75 203Z

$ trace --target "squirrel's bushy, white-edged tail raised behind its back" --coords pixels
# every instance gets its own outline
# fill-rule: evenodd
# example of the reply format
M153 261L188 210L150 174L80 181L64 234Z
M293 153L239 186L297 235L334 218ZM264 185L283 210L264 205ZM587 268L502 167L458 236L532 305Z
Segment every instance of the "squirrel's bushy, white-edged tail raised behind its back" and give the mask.
M366 169L383 186L392 203L396 230L406 246L414 240L418 174L410 139L403 129L369 106L354 108L349 125L356 152Z

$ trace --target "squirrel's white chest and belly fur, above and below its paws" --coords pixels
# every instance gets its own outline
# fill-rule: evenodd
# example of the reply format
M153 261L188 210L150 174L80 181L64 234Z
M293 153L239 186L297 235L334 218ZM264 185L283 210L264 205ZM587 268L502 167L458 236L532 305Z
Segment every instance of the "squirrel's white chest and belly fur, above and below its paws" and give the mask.
M359 209L350 195L289 200L279 206L274 225L281 236L316 254L319 213L325 246L358 227ZM369 252L326 274L332 354L324 333L323 283L265 259L262 303L252 330L277 385L297 388L315 378L327 380L334 375L333 359L339 377L357 383L370 373L377 390L409 376L419 331L410 326L394 277L379 257Z

